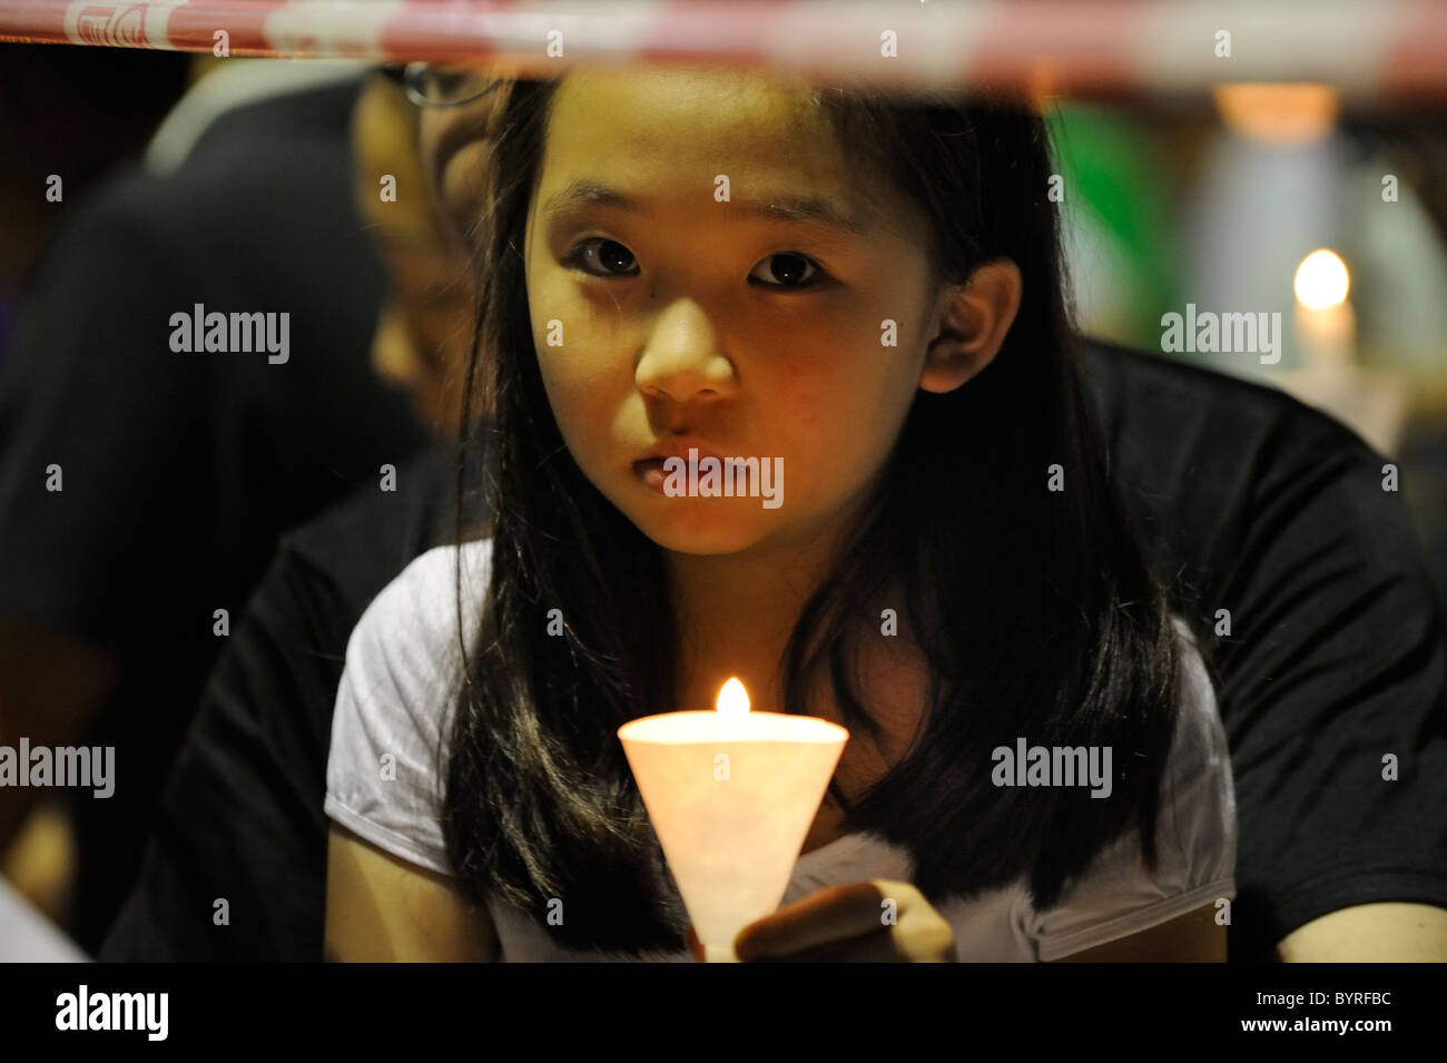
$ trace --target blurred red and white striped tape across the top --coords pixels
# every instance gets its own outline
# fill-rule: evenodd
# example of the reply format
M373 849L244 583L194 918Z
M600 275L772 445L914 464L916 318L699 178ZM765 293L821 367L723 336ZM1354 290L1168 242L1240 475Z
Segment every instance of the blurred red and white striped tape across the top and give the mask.
M505 56L534 75L724 62L1032 93L1447 95L1438 0L0 0L0 40L211 52L217 30L236 56Z

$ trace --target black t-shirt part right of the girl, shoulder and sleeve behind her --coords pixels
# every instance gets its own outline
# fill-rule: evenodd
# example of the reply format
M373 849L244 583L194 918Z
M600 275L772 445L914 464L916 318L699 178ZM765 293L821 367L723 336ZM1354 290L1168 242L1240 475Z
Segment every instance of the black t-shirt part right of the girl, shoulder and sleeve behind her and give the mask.
M1447 907L1447 641L1386 460L1270 388L1107 347L1090 369L1152 568L1215 658L1231 959L1354 904Z

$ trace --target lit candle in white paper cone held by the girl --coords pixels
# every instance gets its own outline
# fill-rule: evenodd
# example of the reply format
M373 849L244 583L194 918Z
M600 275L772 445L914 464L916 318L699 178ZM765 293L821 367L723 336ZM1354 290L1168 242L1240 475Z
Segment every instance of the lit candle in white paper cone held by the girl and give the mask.
M716 712L618 729L648 819L709 962L778 908L849 732L813 716L748 710L729 680Z

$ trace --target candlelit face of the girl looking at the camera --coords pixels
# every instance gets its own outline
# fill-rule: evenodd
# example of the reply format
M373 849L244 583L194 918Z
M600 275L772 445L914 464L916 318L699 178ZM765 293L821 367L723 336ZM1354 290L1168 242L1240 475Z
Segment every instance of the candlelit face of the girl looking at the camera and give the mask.
M836 529L881 471L939 324L923 226L865 188L786 82L564 77L525 263L543 382L579 467L683 554ZM635 463L664 445L781 469L778 503L660 492Z

